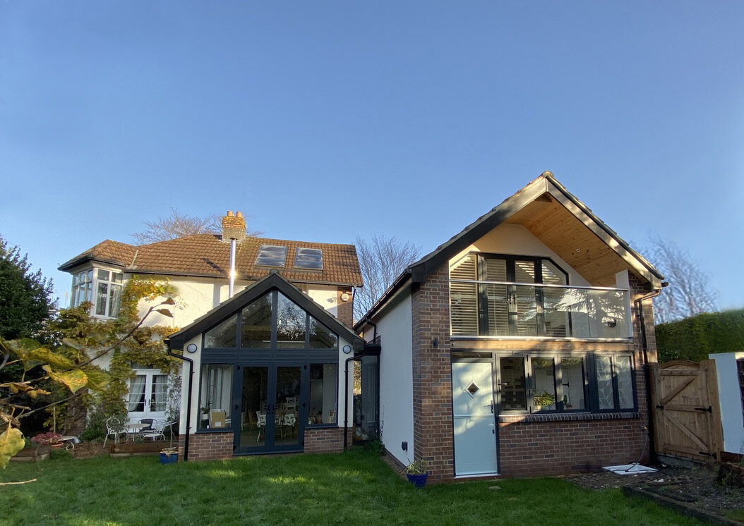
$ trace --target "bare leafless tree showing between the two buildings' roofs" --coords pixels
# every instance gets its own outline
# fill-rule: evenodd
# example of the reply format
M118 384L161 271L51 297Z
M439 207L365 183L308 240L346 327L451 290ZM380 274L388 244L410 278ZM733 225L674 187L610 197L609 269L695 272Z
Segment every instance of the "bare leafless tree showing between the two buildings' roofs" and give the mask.
M421 247L410 241L396 238L372 236L369 241L356 238L356 255L362 269L365 286L356 292L354 318L360 319L372 305L388 290L408 265L419 259Z

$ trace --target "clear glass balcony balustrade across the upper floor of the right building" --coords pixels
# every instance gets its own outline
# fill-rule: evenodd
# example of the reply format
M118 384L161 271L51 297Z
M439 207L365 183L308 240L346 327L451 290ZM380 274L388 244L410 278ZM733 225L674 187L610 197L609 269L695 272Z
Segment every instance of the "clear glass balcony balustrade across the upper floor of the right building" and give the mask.
M625 289L450 279L449 298L453 339L632 337Z

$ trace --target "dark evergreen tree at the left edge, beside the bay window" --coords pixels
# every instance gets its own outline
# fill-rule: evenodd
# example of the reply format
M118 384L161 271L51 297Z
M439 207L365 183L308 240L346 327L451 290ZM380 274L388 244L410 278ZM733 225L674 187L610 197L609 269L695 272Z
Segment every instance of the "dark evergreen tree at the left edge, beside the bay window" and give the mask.
M31 271L27 256L0 237L0 337L5 340L42 336L57 304L51 279Z

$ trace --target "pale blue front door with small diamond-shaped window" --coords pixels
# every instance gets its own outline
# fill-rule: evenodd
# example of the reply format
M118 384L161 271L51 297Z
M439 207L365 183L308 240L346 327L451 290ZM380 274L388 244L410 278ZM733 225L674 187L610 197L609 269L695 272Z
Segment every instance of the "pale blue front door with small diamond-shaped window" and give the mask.
M452 416L455 425L455 476L498 473L493 365L490 361L452 362Z

